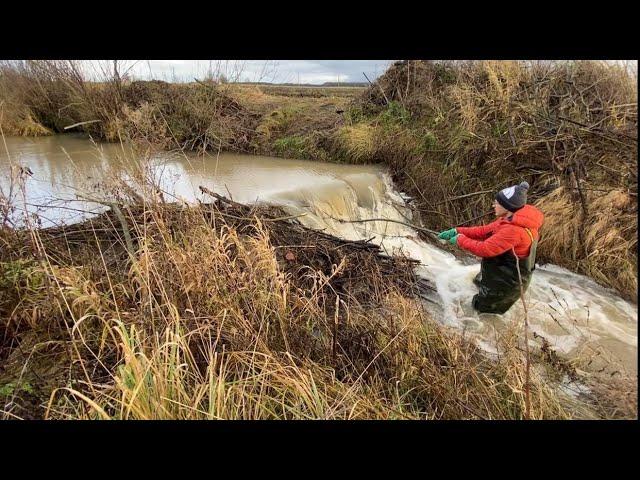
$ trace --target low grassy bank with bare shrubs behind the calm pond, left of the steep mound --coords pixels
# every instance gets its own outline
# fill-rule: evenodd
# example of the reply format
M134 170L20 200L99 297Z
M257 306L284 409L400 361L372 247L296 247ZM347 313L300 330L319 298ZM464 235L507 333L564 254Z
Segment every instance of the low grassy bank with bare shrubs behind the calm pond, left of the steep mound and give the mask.
M278 140L304 137L312 145L307 137L335 127L342 118L337 112L361 91L131 82L111 72L90 82L75 61L4 62L0 121L9 135L59 133L76 125L75 131L95 139L161 149L283 154Z

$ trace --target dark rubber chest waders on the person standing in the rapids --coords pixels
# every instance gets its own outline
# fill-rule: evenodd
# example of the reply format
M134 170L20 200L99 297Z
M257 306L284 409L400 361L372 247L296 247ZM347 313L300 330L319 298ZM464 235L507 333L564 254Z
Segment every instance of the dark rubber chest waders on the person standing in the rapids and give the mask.
M522 288L527 290L531 281L531 273L536 268L536 250L538 240L533 238L531 231L525 228L531 238L531 248L527 258L518 259L511 250L491 258L483 258L480 263L480 273L473 282L480 287L480 291L473 296L471 304L481 313L505 313L511 305L520 298L520 281L518 279L518 267Z

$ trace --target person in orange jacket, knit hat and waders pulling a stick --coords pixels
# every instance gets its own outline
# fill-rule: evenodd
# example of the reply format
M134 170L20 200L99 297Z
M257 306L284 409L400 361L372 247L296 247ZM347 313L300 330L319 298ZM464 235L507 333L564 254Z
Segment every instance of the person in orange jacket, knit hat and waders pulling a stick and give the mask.
M479 291L471 304L481 313L505 313L526 291L535 269L543 213L527 205L529 184L500 190L493 202L497 220L477 227L456 227L438 237L482 258L474 278ZM520 275L518 275L518 265Z

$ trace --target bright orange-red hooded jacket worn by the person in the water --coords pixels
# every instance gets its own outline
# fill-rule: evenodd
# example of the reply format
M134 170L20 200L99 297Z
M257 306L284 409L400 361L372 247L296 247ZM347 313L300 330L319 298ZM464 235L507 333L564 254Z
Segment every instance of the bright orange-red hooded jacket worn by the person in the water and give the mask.
M507 250L515 249L519 258L529 256L531 231L533 238L540 238L538 230L544 215L533 205L525 205L511 218L499 218L495 222L479 227L456 227L458 246L478 257L496 257Z

